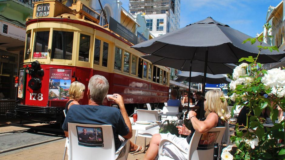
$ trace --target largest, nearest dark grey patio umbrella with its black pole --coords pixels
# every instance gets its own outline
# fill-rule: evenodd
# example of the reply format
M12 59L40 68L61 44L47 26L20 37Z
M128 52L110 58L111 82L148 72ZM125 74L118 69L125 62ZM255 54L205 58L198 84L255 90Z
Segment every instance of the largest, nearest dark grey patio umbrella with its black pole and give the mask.
M192 71L192 62L195 60L204 61L205 66L207 66L208 62L237 63L243 57L257 57L258 43L253 45L249 42L242 44L248 38L252 37L208 17L176 31L134 45L132 48L161 58L157 61L149 59L153 64L157 64L165 58L184 60L184 64L189 63L189 71ZM264 43L263 46L270 45ZM284 56L284 52L262 50L257 62L278 62ZM143 56L146 59L150 57ZM205 67L204 73L206 71L207 68ZM203 84L206 81L206 74L204 77ZM205 92L205 85L203 85L203 92ZM203 103L201 109L203 111ZM203 112L201 112L201 117L203 117Z

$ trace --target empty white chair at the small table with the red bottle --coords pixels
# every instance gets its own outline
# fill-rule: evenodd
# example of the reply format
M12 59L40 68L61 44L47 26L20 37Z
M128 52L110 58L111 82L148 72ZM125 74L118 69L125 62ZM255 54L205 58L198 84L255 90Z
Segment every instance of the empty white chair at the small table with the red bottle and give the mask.
M137 114L138 114L138 121L159 121L157 111L138 109ZM161 126L156 126L156 127L147 129L145 131L136 130L134 143L136 144L137 136L144 137L145 138L144 151L145 151L146 150L146 138L151 138L154 134L159 133L160 128Z

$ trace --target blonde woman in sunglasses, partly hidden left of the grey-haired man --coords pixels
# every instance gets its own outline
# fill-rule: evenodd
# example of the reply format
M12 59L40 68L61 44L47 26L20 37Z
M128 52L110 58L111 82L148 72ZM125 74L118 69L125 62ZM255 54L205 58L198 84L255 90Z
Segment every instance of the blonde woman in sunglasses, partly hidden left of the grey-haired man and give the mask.
M65 105L65 114L71 105L79 105L78 101L83 98L85 91L85 85L81 82L75 81L70 84L68 93L69 100Z

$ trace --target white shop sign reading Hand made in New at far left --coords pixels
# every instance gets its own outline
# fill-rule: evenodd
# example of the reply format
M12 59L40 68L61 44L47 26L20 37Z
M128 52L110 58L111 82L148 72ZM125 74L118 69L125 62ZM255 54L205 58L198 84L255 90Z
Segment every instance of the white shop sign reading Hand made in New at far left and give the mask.
M12 25L10 23L6 23L3 21L0 21L0 34L5 35L8 37L12 37L15 39L19 39L21 41L25 42L26 39L26 30L22 29L20 27L16 27L15 25Z

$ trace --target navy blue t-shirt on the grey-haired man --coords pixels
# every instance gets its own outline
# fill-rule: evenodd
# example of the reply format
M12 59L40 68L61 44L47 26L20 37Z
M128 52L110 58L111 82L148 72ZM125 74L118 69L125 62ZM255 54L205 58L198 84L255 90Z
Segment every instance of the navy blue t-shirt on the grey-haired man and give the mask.
M112 125L115 148L120 147L119 135L129 133L121 111L115 107L103 105L72 105L69 107L62 129L68 131L68 122L96 125Z

